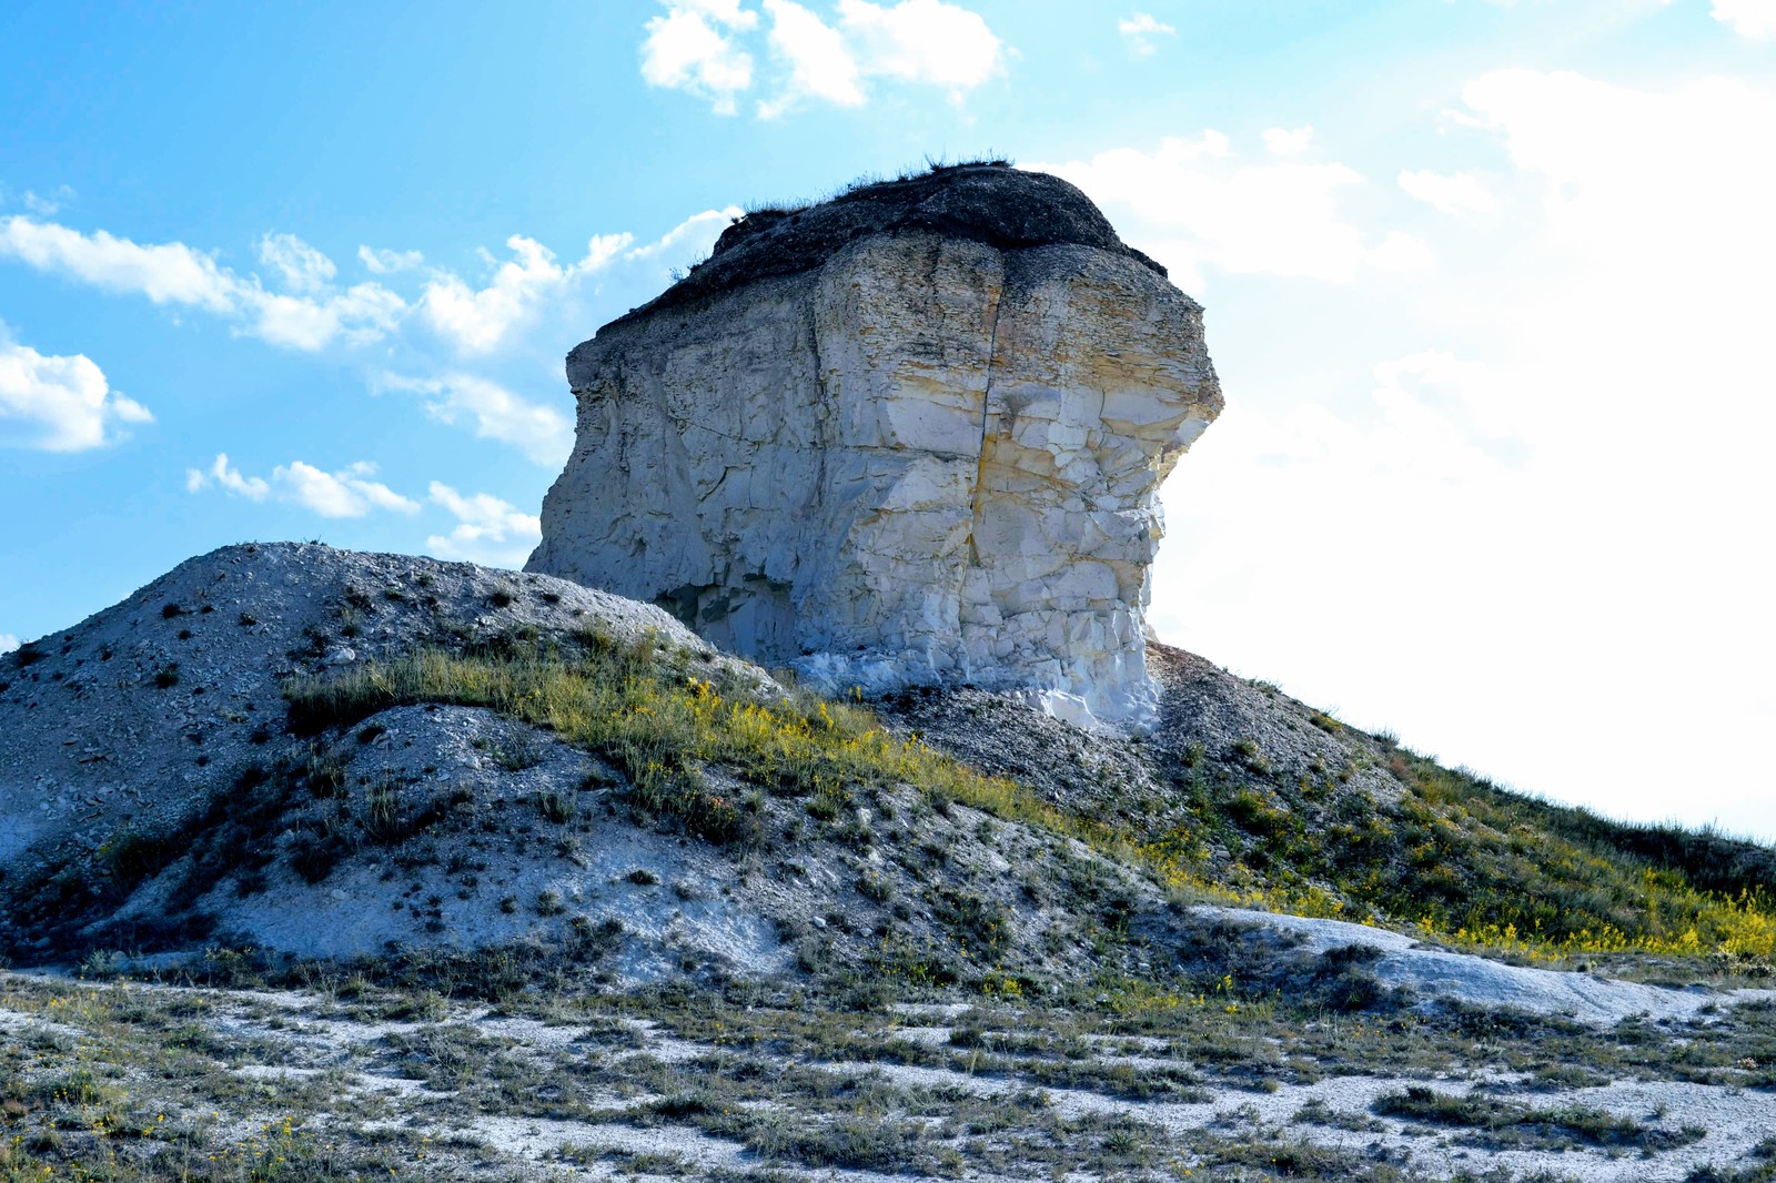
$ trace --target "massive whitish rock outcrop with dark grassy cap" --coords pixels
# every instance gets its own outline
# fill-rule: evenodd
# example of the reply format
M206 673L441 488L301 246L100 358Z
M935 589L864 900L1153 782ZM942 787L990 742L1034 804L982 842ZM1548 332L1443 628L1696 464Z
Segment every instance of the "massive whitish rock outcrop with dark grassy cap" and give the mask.
M529 570L833 687L1140 721L1158 487L1220 412L1202 309L996 165L755 213L568 355Z

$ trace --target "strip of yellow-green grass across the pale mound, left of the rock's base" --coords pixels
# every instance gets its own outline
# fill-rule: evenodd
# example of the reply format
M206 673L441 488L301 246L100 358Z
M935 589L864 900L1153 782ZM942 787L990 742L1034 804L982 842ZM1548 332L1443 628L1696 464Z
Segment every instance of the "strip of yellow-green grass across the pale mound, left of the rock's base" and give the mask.
M652 636L623 645L583 632L568 648L504 647L476 654L416 652L284 689L297 732L353 726L405 703L487 707L545 726L599 755L627 780L630 806L677 819L712 842L758 837L758 803L718 792L721 766L762 792L803 798L819 821L849 812L860 789L913 785L996 817L1117 846L1121 835L1073 819L1014 782L984 776L874 712L806 691L767 698L700 655ZM1124 854L1128 851L1122 851Z

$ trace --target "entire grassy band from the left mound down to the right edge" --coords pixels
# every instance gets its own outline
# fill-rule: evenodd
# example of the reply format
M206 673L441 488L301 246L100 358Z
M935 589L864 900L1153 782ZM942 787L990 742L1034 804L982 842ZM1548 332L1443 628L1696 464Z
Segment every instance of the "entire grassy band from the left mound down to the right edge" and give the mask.
M1154 808L1055 805L897 735L863 703L808 693L765 702L710 682L687 654L593 634L567 647L519 638L421 652L286 695L305 730L421 702L545 725L614 764L636 815L710 842L792 844L794 833L762 828L764 794L803 799L812 824L844 826L858 824L858 794L911 785L1083 840L1209 899L1415 925L1529 957L1648 952L1764 973L1776 954L1771 851L1513 794L1277 695L1279 714L1300 711L1343 757L1295 769L1252 739L1146 751L1146 771L1165 785ZM748 790L710 789L707 767ZM1366 783L1359 771L1384 769L1392 792L1353 787Z

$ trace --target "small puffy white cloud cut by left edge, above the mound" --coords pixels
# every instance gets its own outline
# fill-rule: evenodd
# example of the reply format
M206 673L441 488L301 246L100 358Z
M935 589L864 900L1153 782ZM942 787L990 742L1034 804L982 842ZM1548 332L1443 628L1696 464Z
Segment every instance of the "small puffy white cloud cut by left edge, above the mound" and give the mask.
M46 357L0 325L0 446L87 451L123 439L121 425L153 421L85 353Z

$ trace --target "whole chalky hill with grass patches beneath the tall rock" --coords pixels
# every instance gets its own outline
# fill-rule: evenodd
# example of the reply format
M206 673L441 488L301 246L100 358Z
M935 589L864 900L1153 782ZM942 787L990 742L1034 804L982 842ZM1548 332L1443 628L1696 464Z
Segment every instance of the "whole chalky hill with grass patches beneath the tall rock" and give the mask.
M845 703L547 576L226 547L0 664L0 954L1181 988L1225 952L1208 901L1769 970L1765 847L1149 663L1137 739L971 687ZM1298 941L1252 982L1382 996Z

